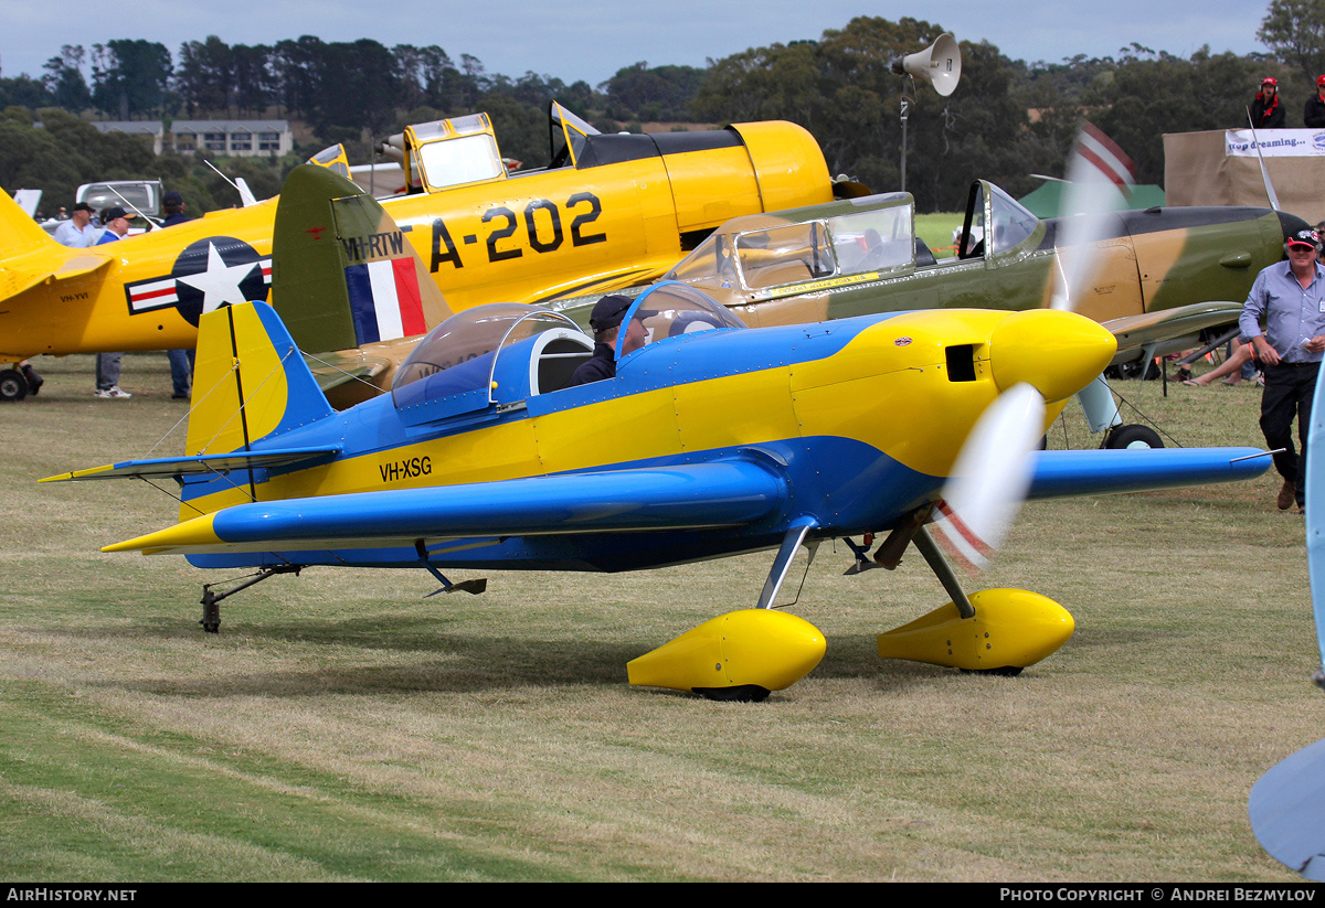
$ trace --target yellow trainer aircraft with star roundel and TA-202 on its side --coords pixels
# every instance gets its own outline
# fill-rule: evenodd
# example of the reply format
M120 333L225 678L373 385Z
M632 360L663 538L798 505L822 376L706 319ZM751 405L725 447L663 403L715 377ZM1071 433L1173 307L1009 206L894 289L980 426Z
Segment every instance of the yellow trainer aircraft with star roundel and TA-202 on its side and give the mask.
M819 146L791 123L600 135L554 102L550 136L547 167L509 173L486 114L405 131L412 192L386 206L453 310L647 283L731 217L833 196ZM0 196L0 365L192 347L203 312L268 298L276 200L66 249ZM0 369L0 397L25 393Z

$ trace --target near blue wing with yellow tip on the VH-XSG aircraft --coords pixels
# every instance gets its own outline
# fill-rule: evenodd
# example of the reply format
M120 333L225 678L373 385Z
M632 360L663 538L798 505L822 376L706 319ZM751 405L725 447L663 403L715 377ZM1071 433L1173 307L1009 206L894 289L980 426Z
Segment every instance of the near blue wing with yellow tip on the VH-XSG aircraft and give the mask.
M746 461L253 502L107 545L106 552L368 549L419 540L731 527L783 502Z

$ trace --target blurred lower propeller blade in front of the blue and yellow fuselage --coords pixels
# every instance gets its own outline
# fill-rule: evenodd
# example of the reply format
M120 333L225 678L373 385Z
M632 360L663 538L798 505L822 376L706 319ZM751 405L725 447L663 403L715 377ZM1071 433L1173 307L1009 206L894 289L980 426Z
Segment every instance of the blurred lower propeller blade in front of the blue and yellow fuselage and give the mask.
M1018 384L999 394L966 438L938 503L934 540L967 573L984 568L1012 525L1043 431L1044 398Z

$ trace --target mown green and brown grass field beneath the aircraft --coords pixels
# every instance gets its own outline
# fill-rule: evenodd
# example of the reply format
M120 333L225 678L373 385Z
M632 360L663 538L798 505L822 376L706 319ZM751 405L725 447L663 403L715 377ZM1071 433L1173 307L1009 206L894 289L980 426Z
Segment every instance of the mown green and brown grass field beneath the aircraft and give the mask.
M1272 477L1030 504L979 588L1051 596L1077 631L1016 679L881 662L873 635L946 597L914 555L844 577L824 544L794 610L827 658L718 704L624 664L753 604L767 555L428 600L421 570L313 569L204 635L221 576L98 551L170 499L36 482L147 455L184 416L164 355L126 357L131 401L91 398L90 357L38 367L0 409L4 879L1297 879L1246 814L1325 735ZM1260 442L1253 388L1121 390L1179 443ZM1049 438L1086 442L1071 409Z

